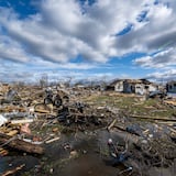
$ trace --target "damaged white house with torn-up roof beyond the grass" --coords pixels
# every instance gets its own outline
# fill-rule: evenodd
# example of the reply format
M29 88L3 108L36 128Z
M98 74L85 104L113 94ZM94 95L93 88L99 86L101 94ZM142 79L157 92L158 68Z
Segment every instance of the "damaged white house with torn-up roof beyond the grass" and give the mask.
M118 79L107 87L107 90L138 95L146 95L157 89L156 85L146 79Z

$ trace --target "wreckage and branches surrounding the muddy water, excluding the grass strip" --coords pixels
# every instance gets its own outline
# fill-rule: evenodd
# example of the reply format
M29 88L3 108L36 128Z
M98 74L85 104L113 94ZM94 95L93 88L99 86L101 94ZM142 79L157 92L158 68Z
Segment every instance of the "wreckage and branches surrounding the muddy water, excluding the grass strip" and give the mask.
M79 100L78 94L72 91L57 87L1 87L0 156L11 151L43 155L48 144L61 139L62 132L106 129L114 141L109 141L110 147L113 144L112 165L123 165L132 175L147 175L151 168L173 165L176 158L175 119L168 122L168 119L129 114L109 105L97 107ZM84 92L80 96L86 97ZM13 173L23 167L18 166Z

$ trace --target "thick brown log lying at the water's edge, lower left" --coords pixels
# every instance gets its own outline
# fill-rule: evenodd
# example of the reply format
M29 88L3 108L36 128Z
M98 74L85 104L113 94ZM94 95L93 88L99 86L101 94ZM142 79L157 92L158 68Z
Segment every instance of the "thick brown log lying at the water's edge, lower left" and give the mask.
M2 145L7 145L9 147L35 154L43 154L44 148L37 144L32 144L30 142L25 142L23 140L11 138L4 133L0 133L0 143Z

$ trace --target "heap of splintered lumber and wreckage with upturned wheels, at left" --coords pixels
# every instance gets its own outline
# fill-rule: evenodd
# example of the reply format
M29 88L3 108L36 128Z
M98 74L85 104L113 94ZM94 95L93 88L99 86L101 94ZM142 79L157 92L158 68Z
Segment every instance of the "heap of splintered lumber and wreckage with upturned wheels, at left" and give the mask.
M102 117L95 114L82 102L70 101L68 94L63 90L46 88L41 91L36 87L33 91L35 94L24 88L21 92L18 92L8 87L1 92L1 147L8 145L28 153L42 154L44 148L38 144L43 142L31 140L32 132L30 130L30 125L37 125L41 121L42 125L46 121L47 124L57 122L66 127L73 124L85 124L85 127L90 123L101 124L100 118ZM88 113L88 111L91 113ZM29 140L25 138L29 138Z

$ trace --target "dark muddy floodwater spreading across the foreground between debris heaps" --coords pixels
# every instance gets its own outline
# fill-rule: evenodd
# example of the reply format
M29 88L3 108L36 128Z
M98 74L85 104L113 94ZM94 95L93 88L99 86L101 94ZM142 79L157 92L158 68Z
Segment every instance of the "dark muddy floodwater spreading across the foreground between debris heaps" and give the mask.
M124 166L112 166L109 156L108 139L120 142L117 133L107 130L62 134L61 140L46 145L42 156L11 155L0 157L0 174L21 164L25 167L15 176L138 176L140 173L124 172ZM19 153L18 153L19 154ZM174 176L176 163L172 170L152 167L147 176ZM143 174L142 174L143 175ZM143 175L145 176L145 175Z

